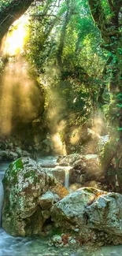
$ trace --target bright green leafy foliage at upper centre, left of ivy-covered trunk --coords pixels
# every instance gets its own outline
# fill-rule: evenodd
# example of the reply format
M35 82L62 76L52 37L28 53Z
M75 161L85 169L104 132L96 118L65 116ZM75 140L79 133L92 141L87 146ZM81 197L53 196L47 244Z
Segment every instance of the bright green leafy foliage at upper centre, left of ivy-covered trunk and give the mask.
M96 109L102 84L102 40L86 1L64 0L54 6L52 0L40 2L33 9L27 57L31 72L35 70L45 91L46 111L55 111L60 105L56 108L57 123L65 119L69 124L83 124ZM57 58L60 47L61 66Z

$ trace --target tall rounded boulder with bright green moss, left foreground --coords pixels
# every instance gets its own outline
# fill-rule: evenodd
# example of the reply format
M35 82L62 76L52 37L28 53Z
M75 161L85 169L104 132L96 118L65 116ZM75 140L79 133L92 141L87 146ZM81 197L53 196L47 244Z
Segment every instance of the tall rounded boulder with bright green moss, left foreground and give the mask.
M13 161L2 182L2 227L12 236L40 234L50 219L50 208L68 195L66 188L31 158Z

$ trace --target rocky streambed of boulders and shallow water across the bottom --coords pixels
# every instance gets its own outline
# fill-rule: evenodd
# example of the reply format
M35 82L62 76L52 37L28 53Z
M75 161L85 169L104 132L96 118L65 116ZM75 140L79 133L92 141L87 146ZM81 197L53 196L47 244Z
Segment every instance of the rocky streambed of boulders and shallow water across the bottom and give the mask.
M57 158L53 158L52 160L47 158L47 161L44 161L43 159L42 161L39 161L39 162L41 163L41 165L44 166L44 168L47 168L47 169L55 168L56 166L54 165L57 165L56 164ZM75 159L75 161L77 160ZM8 207L6 209L6 203L4 202L3 227L6 229L7 232L9 232L9 234L17 237L9 236L1 228L0 255L2 256L5 256L5 255L9 255L9 256L10 255L15 255L15 256L16 255L46 255L46 256L47 255L49 256L50 255L52 256L53 255L64 255L64 256L122 255L122 252L121 252L122 247L120 245L116 245L116 247L114 246L101 247L98 249L98 243L99 245L102 246L105 243L105 240L107 243L114 243L114 244L121 243L121 240L120 240L121 239L121 235L120 235L121 222L119 222L121 221L121 210L120 210L121 208L119 206L121 204L120 203L121 201L119 201L121 200L120 195L119 195L119 198L117 198L118 194L116 193L109 193L109 195L108 194L105 195L103 191L98 191L96 188L92 190L79 189L78 191L68 195L68 192L64 190L65 188L61 187L61 185L58 184L58 181L56 181L51 176L51 174L47 175L46 172L42 173L42 171L41 173L44 177L43 181L46 178L46 184L44 184L43 181L41 182L41 189L43 192L40 193L39 191L40 184L38 187L38 182L36 182L35 187L31 187L31 184L33 184L33 181L35 181L35 179L38 178L38 175L40 176L40 173L35 172L36 175L31 176L31 180L30 180L30 175L28 176L27 169L25 168L25 165L27 164L27 158L24 158L24 160L22 160L24 169L22 169L21 165L19 166L17 165L17 161L15 161L15 163L13 163L13 165L11 165L11 168L9 169L10 176L9 176L9 171L6 172L6 178L5 178L6 180L4 180L4 186L7 188L7 191L9 192L9 194L6 194L7 200L9 198L9 201L8 201L9 204L7 204ZM31 161L28 160L28 167L30 169L32 168L32 166L33 166L32 169L34 169L35 165L37 165L35 162L31 163ZM2 180L3 171L4 171L3 166L1 169L2 169L2 172L1 172L1 180ZM22 180L22 176L20 175L20 172L22 170L25 175L24 178L26 180ZM36 171L37 171L37 166L36 166ZM9 183L7 184L8 181ZM23 184L23 181L24 181L24 184ZM13 189L12 191L11 186L13 186L13 183L16 190ZM21 186L23 185L24 187L21 190L22 188ZM48 185L48 188L46 185ZM29 188L28 190L27 190L27 187ZM57 187L58 187L58 190L57 190ZM61 189L61 195L59 193L60 189ZM28 193L25 193L25 191ZM52 194L54 195L53 199L52 199ZM1 195L2 195L2 186L1 186ZM23 202L20 199L21 195L24 198ZM31 195L33 195L33 197L36 200L31 201L30 199L28 201L28 198L31 198ZM40 195L41 195L41 198L40 198ZM14 200L12 198L14 198ZM53 200L55 200L55 202ZM108 212L106 211L105 203L107 204L107 209L113 208L115 214L112 214L112 211L111 212L109 212L109 210ZM53 212L52 210L50 210L52 206L54 209ZM76 206L78 209L76 209ZM84 210L86 206L88 210ZM101 206L102 210L99 210L99 206ZM27 208L29 208L29 212ZM31 224L30 222L31 217L35 215L33 213L35 213L36 210L41 211L41 223L37 224L36 222L37 217L35 217L35 220L36 220L36 221L34 220L35 224ZM96 210L94 211L94 215L92 214L93 210ZM17 213L19 218L16 217ZM86 215L84 215L84 213ZM99 213L101 213L100 218L98 218ZM102 213L104 213L104 216L102 216ZM27 214L28 216L27 215L25 216L25 214ZM51 214L53 223L55 223L55 227L57 227L58 229L58 228L61 228L61 226L63 226L64 227L63 230L61 230L60 232L57 230L57 233L55 231L54 231L55 233L50 232L53 225L52 222L49 221L50 214ZM118 216L118 214L120 214L120 217ZM109 220L107 219L108 216L109 216ZM110 218L111 218L111 224L110 224ZM14 219L15 219L15 222L14 222ZM105 223L103 224L102 222L104 219L105 219ZM106 222L107 220L108 222ZM11 223L11 221L13 221L13 223ZM88 224L88 226L84 226L86 225L86 223ZM29 224L29 228L27 224ZM7 230L6 226L7 228L9 227L9 230ZM42 233L39 234L39 237L33 236L35 234L38 234L37 231L40 231L40 227L43 227L43 229L41 230ZM96 231L94 232L94 227L95 229L97 229L97 232ZM109 235L108 235L108 230L109 230ZM12 232L18 232L18 235L12 234ZM24 233L21 233L21 232L25 232L25 233L27 232L27 235L29 236L32 235L32 237L28 237L28 238L19 237L19 236L24 236ZM81 237L81 233L83 234L83 232L85 233L83 237ZM74 233L75 233L75 236L74 236ZM79 239L79 234L80 234L80 239ZM89 241L88 243L83 245L83 239L87 239L88 237L90 237L89 235L92 236L92 245L94 244L93 247L91 246Z

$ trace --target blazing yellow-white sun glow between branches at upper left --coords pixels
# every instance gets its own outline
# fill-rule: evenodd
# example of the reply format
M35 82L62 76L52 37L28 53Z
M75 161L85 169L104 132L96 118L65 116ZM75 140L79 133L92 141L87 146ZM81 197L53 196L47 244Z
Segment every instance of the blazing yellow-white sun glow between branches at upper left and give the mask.
M13 30L9 31L4 46L4 54L11 56L21 54L24 48L24 39L28 35L28 15L20 17L13 23Z

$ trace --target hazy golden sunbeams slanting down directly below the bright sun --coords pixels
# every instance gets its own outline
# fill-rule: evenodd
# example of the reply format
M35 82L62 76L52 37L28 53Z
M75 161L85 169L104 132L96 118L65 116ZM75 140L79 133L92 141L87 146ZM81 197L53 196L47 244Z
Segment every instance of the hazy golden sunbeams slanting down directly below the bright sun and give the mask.
M39 116L40 92L28 76L28 64L20 57L12 58L2 75L0 98L0 132L9 135L14 122L27 123ZM36 98L36 102L35 102Z

